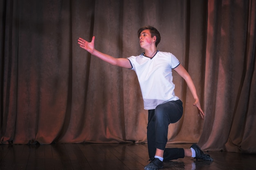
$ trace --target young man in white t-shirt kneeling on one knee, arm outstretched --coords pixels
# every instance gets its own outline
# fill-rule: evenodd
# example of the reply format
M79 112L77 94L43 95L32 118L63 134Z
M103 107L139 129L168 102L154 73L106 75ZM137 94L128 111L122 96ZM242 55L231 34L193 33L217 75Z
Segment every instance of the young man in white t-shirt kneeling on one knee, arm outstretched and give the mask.
M150 163L145 170L157 170L163 168L163 161L169 161L184 157L194 157L212 161L204 154L198 145L193 144L189 149L165 148L167 143L168 125L180 120L183 114L182 101L175 96L172 69L186 81L198 109L198 115L204 119L195 85L189 73L180 64L179 60L171 53L157 50L161 37L154 27L141 27L138 30L139 44L145 50L139 56L128 58L114 58L103 54L94 48L94 39L88 42L79 38L78 44L94 56L102 60L136 72L141 93L144 100L144 109L148 110L148 154Z

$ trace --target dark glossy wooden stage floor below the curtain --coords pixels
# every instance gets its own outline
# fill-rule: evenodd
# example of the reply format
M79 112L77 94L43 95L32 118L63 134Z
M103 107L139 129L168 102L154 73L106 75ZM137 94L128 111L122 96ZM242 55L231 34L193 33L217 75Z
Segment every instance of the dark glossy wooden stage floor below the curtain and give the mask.
M256 170L255 154L208 154L213 162L186 157L164 162L162 170ZM0 145L0 170L144 170L147 161L146 144Z

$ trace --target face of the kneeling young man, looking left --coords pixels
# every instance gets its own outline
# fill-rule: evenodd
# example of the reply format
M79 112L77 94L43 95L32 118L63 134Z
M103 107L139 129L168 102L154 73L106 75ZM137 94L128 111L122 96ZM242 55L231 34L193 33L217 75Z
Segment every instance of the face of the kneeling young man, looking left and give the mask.
M139 44L141 48L151 47L152 45L155 45L155 39L156 37L151 37L150 31L145 29L141 31L139 35Z

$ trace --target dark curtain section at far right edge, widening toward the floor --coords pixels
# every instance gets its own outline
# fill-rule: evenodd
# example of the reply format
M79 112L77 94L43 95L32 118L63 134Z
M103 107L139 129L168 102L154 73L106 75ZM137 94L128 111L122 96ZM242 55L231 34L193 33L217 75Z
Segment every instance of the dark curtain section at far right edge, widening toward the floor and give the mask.
M245 28L245 54L243 61L242 78L240 82L239 98L234 111L233 122L226 148L232 152L255 153L256 138L254 137L256 121L256 2L251 0L246 4L247 28ZM241 129L242 128L242 129Z

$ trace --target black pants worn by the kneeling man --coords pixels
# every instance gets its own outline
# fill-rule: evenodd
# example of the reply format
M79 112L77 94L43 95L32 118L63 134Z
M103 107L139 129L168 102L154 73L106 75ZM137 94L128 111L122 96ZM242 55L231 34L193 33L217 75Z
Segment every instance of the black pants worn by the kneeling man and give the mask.
M158 105L154 110L148 110L148 154L155 156L156 148L164 150L164 161L184 158L183 148L165 148L167 143L168 125L176 123L183 114L182 101L169 101Z

